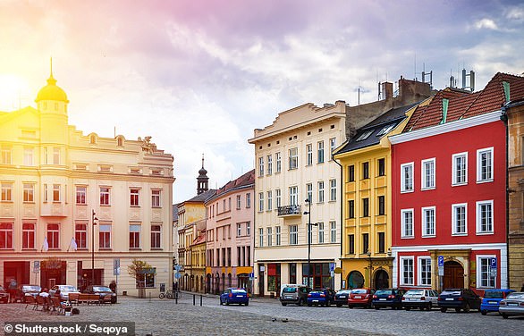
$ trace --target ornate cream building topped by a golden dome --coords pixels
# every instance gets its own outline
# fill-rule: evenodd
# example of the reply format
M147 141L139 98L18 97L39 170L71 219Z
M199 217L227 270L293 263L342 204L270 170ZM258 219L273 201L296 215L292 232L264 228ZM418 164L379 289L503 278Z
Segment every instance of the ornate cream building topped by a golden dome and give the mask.
M119 294L136 295L127 267L137 258L151 265L140 278L156 295L173 279L173 156L150 137L76 130L53 74L35 102L0 112L3 284L115 280Z

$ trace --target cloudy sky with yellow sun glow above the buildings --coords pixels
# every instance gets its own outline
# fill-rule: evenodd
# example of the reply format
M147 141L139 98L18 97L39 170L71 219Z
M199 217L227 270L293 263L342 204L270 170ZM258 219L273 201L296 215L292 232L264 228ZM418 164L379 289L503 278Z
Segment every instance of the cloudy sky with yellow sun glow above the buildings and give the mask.
M202 155L210 188L253 169L248 139L278 113L369 103L422 71L442 89L472 70L479 90L523 73L522 55L521 1L0 0L0 111L36 107L53 57L70 124L151 136L179 203Z

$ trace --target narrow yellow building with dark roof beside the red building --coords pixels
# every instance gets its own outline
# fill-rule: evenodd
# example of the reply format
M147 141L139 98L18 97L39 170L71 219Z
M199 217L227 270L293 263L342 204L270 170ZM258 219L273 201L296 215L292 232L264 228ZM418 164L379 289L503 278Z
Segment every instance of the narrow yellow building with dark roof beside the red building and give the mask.
M416 106L416 105L415 105ZM394 108L337 148L342 164L342 288L392 285L391 146L413 105Z

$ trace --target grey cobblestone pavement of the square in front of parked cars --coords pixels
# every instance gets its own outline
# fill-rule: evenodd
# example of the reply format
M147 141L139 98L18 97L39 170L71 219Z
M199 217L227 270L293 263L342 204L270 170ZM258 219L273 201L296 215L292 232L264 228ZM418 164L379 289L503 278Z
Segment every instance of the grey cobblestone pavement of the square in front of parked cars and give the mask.
M119 298L116 305L80 305L80 315L48 315L25 305L0 305L0 335L6 321L135 322L136 334L146 335L521 335L524 317L441 313L438 310L349 309L347 307L283 307L278 300L252 298L249 306L220 306L216 296L183 293L171 299ZM287 319L287 320L286 320ZM275 321L273 321L275 320ZM287 322L283 322L286 320Z

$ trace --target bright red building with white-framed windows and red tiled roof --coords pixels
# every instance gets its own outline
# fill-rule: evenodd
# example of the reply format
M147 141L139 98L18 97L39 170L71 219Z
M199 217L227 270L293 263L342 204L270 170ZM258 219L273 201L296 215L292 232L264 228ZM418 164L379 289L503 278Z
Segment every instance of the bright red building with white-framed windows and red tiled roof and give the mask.
M503 73L476 93L446 88L390 138L393 286L507 288L501 107L519 97L524 78Z

